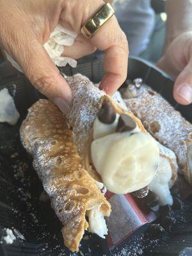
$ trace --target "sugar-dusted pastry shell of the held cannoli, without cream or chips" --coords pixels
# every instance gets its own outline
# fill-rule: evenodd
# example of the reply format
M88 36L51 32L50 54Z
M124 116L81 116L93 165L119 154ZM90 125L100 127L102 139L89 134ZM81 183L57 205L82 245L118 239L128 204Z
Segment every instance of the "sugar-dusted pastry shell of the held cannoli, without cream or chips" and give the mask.
M97 117L102 102L109 102L118 114L127 113L138 124L141 131L145 132L145 129L140 120L132 115L131 111L127 111L119 93L115 93L114 99L112 99L81 74L67 77L66 80L73 93L72 108L67 118L74 131L74 141L80 156L83 158L86 170L95 179L100 180L99 175L90 166L90 145L93 140L93 122Z

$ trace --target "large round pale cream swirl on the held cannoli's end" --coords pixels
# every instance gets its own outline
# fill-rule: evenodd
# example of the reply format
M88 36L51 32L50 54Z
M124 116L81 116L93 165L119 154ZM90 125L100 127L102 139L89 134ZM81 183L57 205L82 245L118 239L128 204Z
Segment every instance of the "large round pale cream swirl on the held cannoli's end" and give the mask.
M147 186L159 163L156 140L147 133L132 132L115 132L92 142L93 164L106 188L116 194Z

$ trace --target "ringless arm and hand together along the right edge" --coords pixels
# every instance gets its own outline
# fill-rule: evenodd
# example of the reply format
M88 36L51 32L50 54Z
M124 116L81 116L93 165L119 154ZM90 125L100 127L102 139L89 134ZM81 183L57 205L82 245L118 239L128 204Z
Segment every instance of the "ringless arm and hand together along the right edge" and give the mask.
M177 77L173 95L180 104L192 102L192 1L166 0L165 52L158 67Z

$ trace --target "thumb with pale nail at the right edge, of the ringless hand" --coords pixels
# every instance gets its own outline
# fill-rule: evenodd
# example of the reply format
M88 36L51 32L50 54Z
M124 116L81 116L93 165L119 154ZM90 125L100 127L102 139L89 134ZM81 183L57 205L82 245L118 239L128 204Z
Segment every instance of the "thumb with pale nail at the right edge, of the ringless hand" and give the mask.
M173 88L173 96L182 105L192 103L192 61L189 61L177 77Z

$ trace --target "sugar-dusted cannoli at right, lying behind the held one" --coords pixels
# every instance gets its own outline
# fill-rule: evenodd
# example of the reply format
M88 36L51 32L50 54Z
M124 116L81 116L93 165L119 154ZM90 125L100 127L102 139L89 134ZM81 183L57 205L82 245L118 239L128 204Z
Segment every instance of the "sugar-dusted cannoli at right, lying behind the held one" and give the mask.
M123 97L127 108L141 119L147 131L173 150L180 171L192 185L192 124L145 84L129 84Z

